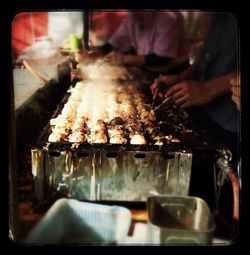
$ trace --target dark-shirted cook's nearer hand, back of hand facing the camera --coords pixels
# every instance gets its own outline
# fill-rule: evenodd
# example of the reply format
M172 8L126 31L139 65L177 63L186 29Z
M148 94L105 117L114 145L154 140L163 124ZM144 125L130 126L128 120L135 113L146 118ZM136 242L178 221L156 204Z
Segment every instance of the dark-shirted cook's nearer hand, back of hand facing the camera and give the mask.
M165 96L181 108L204 105L213 99L206 83L191 80L170 87Z

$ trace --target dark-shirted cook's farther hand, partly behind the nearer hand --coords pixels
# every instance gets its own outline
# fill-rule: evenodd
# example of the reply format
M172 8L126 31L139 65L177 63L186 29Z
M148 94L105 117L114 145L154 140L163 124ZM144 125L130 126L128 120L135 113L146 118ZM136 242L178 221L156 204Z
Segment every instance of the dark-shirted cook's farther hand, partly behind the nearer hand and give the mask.
M179 82L178 75L160 75L150 86L153 95L164 97L169 87Z

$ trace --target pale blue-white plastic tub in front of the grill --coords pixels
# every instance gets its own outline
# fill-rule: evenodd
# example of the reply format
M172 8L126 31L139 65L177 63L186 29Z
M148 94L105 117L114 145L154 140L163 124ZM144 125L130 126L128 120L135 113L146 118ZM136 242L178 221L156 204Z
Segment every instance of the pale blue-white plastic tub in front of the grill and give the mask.
M105 244L126 241L131 212L108 206L59 199L28 235L27 243Z

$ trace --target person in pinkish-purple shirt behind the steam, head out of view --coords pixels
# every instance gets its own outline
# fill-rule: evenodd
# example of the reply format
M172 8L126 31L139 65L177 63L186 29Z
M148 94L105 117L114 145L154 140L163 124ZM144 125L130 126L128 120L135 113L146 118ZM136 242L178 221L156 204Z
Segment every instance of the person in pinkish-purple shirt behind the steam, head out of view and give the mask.
M111 64L144 67L151 72L179 73L189 66L184 19L178 12L131 12L102 47L91 54L77 52L76 60L104 56Z

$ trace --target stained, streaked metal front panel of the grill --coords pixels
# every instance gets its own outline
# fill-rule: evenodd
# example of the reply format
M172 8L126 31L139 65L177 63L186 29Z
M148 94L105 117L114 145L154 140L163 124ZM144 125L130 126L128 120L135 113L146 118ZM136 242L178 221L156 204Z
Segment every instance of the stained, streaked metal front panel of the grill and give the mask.
M143 157L137 157L139 154ZM79 200L146 201L150 192L188 195L192 153L174 152L171 157L161 152L139 154L61 151L57 155L34 149L36 198L42 202L44 194L46 200L53 200L63 184L64 193L60 195Z

